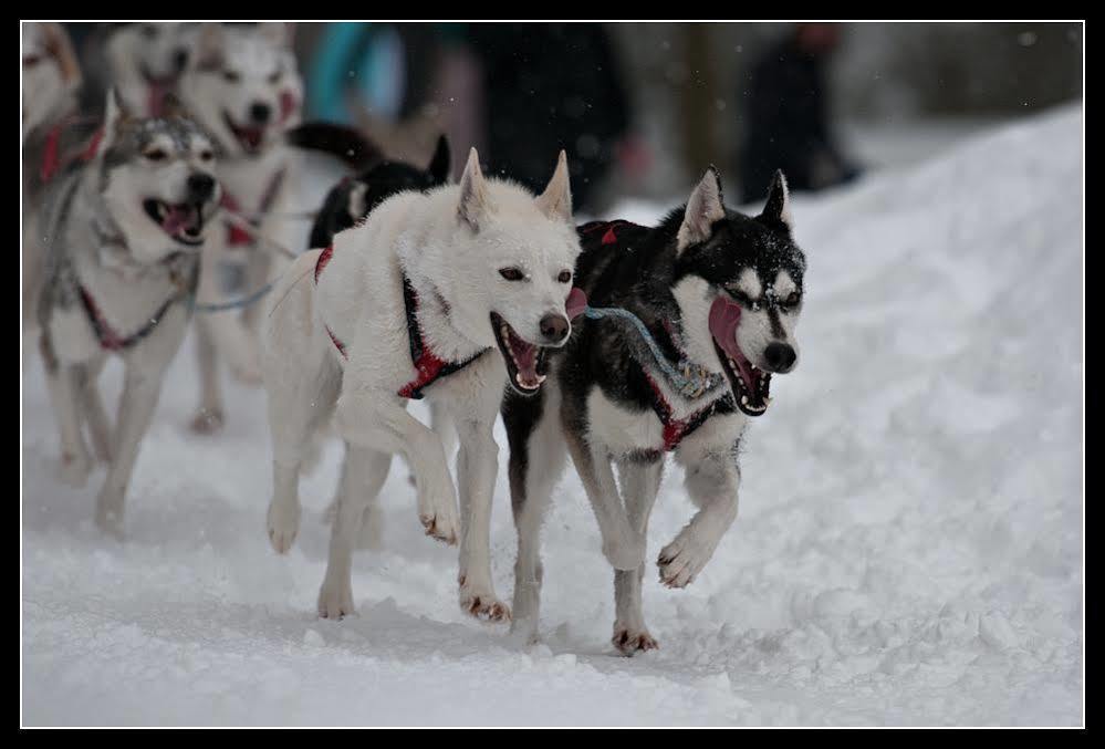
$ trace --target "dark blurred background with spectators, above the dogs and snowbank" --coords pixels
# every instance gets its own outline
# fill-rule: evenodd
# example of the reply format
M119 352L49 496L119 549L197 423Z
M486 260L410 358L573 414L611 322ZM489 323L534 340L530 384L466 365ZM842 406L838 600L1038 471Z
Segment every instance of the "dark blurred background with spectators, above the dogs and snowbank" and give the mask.
M295 48L309 118L410 157L441 128L455 169L472 143L534 187L565 147L591 214L711 163L743 201L775 167L831 187L1082 94L1077 23L305 23Z

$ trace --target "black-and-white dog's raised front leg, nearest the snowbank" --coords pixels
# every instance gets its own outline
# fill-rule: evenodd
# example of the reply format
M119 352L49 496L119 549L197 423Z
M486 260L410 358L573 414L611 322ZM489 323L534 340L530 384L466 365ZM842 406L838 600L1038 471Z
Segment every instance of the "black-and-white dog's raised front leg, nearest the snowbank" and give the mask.
M740 468L731 450L676 456L687 468L687 493L700 509L679 534L660 551L660 582L684 587L695 581L713 555L721 537L737 519Z

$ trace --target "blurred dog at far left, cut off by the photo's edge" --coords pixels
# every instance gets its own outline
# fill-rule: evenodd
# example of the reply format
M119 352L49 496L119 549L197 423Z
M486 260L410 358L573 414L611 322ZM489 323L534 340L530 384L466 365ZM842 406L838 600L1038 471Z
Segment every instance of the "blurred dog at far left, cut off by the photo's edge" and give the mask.
M23 23L23 330L38 324L42 283L42 238L39 209L45 185L80 141L73 127L81 87L76 54L59 23Z

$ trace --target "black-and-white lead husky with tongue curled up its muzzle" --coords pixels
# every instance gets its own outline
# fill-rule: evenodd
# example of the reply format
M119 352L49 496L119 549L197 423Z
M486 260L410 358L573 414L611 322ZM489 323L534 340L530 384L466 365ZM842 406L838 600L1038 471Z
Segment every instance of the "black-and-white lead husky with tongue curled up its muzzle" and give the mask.
M665 454L685 468L699 508L657 560L660 581L682 587L737 517L738 445L748 419L767 410L772 374L798 361L805 259L791 235L782 173L759 216L726 208L710 169L687 205L655 228L614 221L578 232L575 284L588 315L621 308L647 335L624 314L580 318L569 344L553 352L542 392L503 402L518 529L512 630L536 637L540 527L566 451L614 566L613 642L632 655L657 646L640 584ZM570 314L585 308L574 293Z

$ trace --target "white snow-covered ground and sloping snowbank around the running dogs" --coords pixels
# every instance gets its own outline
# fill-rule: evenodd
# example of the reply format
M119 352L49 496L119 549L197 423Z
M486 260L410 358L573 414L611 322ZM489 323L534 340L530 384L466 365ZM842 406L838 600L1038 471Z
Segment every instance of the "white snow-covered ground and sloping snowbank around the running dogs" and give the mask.
M802 362L749 429L740 517L711 563L684 591L646 575L660 649L632 659L608 644L612 575L574 475L544 528L543 644L511 646L460 612L455 552L423 535L398 462L384 548L356 559L359 615L320 621L337 445L278 556L263 395L230 385L226 431L190 434L189 342L117 543L90 521L103 472L80 491L53 477L28 347L23 721L1081 724L1081 107L1066 108L795 200ZM108 396L118 381L113 365ZM650 559L692 512L681 478L666 478Z

